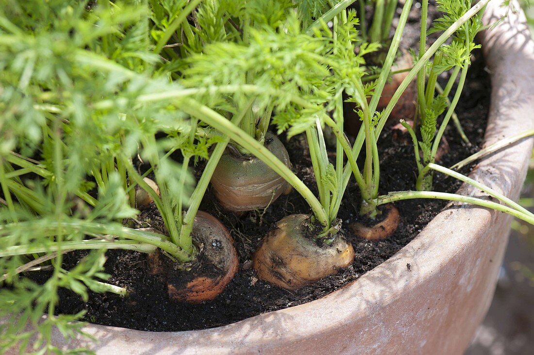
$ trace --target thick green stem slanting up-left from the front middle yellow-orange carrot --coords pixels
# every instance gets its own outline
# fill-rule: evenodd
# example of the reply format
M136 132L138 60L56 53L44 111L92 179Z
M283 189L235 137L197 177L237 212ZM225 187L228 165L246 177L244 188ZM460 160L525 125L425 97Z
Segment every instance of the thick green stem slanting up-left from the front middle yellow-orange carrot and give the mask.
M288 167L286 167L284 163L274 156L269 149L258 143L253 137L248 136L246 132L226 120L222 115L213 111L209 107L199 104L193 99L184 99L184 105L180 106L180 108L190 115L197 116L200 120L211 125L211 127L224 132L239 145L246 147L252 154L258 159L261 159L269 168L278 173L278 175L284 178L302 195L310 205L310 208L319 220L319 223L324 226L328 225L326 212L315 195L313 195L310 189L304 185L304 183Z

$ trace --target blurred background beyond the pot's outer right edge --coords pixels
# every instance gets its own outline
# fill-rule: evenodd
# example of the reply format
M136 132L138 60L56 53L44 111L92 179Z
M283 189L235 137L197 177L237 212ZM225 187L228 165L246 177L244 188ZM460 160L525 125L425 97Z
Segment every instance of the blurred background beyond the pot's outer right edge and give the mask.
M534 1L522 1L533 34L534 6L531 3ZM530 160L520 203L534 212L534 158ZM533 353L534 226L514 220L493 301L466 355Z

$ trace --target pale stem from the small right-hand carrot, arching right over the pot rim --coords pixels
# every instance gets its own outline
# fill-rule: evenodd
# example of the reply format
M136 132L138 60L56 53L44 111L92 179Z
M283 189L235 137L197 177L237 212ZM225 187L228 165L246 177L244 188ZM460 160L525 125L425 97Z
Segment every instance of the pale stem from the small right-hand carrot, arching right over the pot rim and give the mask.
M530 215L525 215L523 212L517 211L508 206L503 206L500 203L486 201L470 196L462 196L458 194L451 194L445 192L431 192L431 191L396 191L390 192L387 195L378 197L378 205L386 204L395 201L411 200L411 199L437 199L448 201L459 201L474 204L476 206L487 207L497 211L506 212L514 217L524 220L530 224L534 224L534 218Z

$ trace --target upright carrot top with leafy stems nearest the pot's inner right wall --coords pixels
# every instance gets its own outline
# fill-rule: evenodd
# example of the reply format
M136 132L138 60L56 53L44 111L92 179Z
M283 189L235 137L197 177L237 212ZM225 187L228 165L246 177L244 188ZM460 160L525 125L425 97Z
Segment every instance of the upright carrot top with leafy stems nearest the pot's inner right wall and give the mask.
M451 25L464 15L471 7L470 1L452 3L450 1L438 1L437 9L445 15L434 21L434 27L427 30L427 23L421 21L421 38L419 48L419 58L425 54L427 33L435 33L451 28ZM422 2L422 19L426 19L428 1ZM417 178L417 190L428 191L432 189L432 170L430 163L436 160L436 153L445 128L449 123L454 108L458 104L462 89L464 88L467 77L467 70L470 64L471 53L474 49L480 48L480 45L474 43L475 35L482 28L482 12L464 22L452 35L450 44L442 44L436 51L434 60L428 64L427 68L421 67L417 76L418 92L418 118L419 131L421 140L418 141L412 127L401 121L403 126L410 132L415 147L415 160L419 170ZM452 74L443 90L437 95L437 77L451 70ZM447 102L449 94L453 88L454 82L459 76L459 82L451 102ZM437 119L445 111L443 121L437 129ZM417 120L416 120L417 121ZM420 156L422 153L422 158Z

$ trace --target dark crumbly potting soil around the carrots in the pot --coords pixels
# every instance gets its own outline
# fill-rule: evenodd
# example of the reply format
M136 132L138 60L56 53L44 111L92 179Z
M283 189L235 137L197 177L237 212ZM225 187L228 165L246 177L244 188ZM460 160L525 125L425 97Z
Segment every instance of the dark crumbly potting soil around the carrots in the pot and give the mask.
M413 15L410 21L414 26L412 28L414 35L407 37L417 38L419 26L417 15ZM490 100L490 81L484 68L481 53L477 51L456 109L462 127L473 145L466 145L450 123L445 131L450 151L441 161L446 167L473 154L482 144ZM282 136L281 139L289 152L293 171L313 192L316 192L315 178L304 137L297 136L286 140ZM417 167L413 146L407 133L392 129L384 130L380 137L379 149L380 192L413 190ZM199 164L198 173L201 170L202 164ZM462 172L468 171L469 168ZM440 174L435 175L436 191L454 192L459 186L457 180L444 179ZM84 320L96 324L153 331L204 329L231 324L257 314L313 301L347 285L397 253L446 205L445 201L437 200L396 202L401 222L395 235L387 240L368 241L358 239L348 228L349 223L359 218L356 212L359 208L358 201L358 188L352 179L345 193L339 218L343 220L341 232L344 238L354 246L356 254L354 263L339 274L320 280L312 286L292 291L280 289L258 280L252 270L252 254L265 233L273 228L278 220L290 214L310 213L308 204L298 193L293 191L280 196L265 210L236 216L225 211L208 191L201 210L217 217L230 230L239 254L237 275L214 301L198 305L170 301L167 287L160 277L148 273L146 254L109 250L106 253L105 269L111 274L111 278L107 282L128 288L130 296L121 298L109 293L90 293L89 301L83 302L72 292L61 290L57 311L73 314L85 310L87 313ZM158 224L160 217L154 214L153 210L144 211L143 214L139 219L148 220L149 224ZM66 254L66 269L75 266L84 255L87 255L87 252ZM43 280L46 274L34 273L30 277Z

